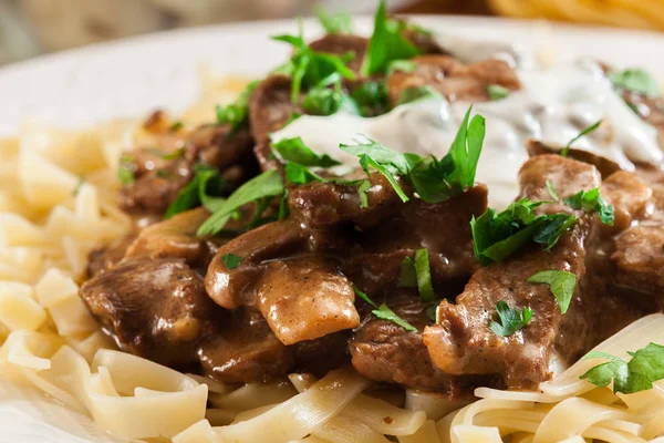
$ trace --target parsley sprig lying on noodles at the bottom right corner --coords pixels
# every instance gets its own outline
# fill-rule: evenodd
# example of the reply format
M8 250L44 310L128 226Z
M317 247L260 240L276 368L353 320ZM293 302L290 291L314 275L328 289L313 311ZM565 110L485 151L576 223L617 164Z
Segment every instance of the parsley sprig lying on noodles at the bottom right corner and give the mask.
M609 361L590 369L580 378L598 387L606 387L613 381L613 393L625 394L647 391L655 381L664 379L664 346L650 343L636 352L627 353L632 357L629 362L605 352L589 352L583 360Z

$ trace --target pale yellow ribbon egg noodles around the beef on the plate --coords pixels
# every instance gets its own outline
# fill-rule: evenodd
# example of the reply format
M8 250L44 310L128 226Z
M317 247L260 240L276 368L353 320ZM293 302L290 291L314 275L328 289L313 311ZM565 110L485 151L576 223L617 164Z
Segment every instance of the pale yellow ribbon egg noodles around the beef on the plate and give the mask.
M220 96L206 99L185 120L209 120L200 110ZM1 142L2 379L38 388L127 440L664 442L664 383L613 394L611 387L579 379L596 360L578 362L540 392L480 388L480 400L465 406L407 392L404 409L363 393L371 382L350 368L320 380L293 374L239 387L117 351L79 298L79 284L90 250L131 227L116 202L117 159L147 142L136 122L77 133L28 124ZM596 350L626 358L650 342L664 344L664 315L639 320Z

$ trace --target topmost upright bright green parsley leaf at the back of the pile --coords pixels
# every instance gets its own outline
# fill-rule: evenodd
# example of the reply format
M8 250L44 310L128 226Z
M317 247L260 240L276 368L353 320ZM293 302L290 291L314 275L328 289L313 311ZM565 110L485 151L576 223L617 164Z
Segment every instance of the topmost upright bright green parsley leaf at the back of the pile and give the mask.
M374 31L362 63L362 74L371 76L383 73L394 60L412 59L422 50L411 43L402 31L406 24L387 18L385 0L380 0L374 18Z

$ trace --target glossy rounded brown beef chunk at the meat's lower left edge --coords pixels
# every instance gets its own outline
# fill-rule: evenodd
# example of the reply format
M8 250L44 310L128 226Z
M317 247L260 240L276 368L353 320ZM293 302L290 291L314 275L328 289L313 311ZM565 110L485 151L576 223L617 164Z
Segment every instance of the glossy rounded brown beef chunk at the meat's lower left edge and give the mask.
M81 287L81 297L122 350L166 365L196 361L195 342L221 309L179 259L123 261Z

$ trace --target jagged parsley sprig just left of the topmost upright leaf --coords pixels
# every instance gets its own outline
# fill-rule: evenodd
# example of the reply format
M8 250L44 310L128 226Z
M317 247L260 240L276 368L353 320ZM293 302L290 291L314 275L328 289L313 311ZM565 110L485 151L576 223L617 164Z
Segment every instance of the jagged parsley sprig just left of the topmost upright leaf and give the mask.
M293 103L298 102L300 91L303 89L328 85L338 78L355 79L355 74L346 65L346 62L354 56L353 53L339 56L312 50L304 41L302 22L300 21L299 24L299 35L276 35L272 38L289 43L294 49L291 60L277 69L278 72L290 75L292 79L291 101Z

